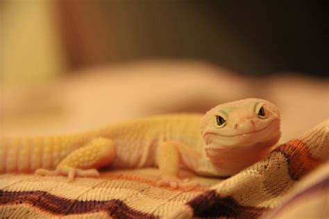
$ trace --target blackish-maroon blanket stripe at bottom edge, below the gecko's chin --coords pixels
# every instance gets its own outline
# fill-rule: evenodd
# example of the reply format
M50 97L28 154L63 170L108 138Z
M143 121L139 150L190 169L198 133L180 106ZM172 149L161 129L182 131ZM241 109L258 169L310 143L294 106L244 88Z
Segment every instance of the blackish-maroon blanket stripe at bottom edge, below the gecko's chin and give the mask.
M233 198L222 198L214 190L205 191L193 200L187 202L193 209L194 217L229 217L229 218L259 218L265 207L248 207L238 204Z

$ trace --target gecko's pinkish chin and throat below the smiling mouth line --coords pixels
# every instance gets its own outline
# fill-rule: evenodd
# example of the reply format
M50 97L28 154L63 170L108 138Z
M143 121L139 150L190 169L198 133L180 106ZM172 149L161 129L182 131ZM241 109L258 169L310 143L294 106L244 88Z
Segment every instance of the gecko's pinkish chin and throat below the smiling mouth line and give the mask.
M259 132L223 137L214 133L204 134L205 155L218 170L234 175L240 170L264 159L280 139L280 130L269 126Z

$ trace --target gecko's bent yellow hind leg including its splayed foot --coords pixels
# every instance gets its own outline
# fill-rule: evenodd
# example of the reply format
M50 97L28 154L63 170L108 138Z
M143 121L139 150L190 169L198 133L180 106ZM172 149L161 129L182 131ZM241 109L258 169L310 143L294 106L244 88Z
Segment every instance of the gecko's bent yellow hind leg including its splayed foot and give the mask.
M64 175L69 181L74 177L99 177L96 168L106 166L115 158L115 143L106 138L96 138L71 152L60 161L56 170L35 170L36 175Z

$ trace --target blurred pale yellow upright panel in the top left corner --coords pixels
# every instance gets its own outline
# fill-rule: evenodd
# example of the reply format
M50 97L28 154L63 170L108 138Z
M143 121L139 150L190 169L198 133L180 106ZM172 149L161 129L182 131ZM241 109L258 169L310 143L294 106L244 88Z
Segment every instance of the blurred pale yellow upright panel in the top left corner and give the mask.
M56 4L52 1L3 1L4 79L31 82L65 70Z

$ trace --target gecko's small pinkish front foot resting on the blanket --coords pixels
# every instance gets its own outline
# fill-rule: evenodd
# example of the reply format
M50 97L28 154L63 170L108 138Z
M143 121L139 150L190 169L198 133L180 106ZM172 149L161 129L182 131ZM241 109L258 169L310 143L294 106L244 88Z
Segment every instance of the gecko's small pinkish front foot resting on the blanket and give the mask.
M196 186L199 186L200 183L189 181L189 179L179 179L178 177L162 177L156 185L169 186L173 189L193 189Z

